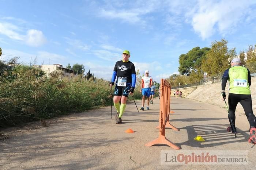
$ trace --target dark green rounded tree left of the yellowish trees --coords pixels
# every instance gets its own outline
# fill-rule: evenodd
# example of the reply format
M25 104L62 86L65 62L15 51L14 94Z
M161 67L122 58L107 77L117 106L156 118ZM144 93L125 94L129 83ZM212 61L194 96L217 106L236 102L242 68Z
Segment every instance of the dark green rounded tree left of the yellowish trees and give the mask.
M202 64L202 59L205 57L207 51L210 48L204 47L200 49L200 47L194 47L192 50L188 51L187 54L181 54L179 57L179 72L182 75L188 75L194 70L195 72L198 71Z

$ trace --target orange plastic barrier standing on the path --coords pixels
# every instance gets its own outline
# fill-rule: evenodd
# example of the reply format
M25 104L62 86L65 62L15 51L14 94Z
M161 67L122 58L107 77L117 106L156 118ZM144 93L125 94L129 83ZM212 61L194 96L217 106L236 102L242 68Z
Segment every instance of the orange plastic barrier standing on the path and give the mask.
M173 130L179 131L176 127L169 123L170 114L170 90L171 86L169 82L161 79L160 85L160 111L159 111L159 137L147 144L145 146L153 146L154 144L166 144L174 149L180 149L179 146L172 143L170 140L165 138L165 128L170 127Z

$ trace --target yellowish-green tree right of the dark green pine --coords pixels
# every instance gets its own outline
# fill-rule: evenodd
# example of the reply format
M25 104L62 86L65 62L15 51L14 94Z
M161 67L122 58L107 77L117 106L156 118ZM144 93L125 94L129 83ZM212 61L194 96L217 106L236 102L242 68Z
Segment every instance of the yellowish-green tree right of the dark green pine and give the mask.
M220 76L230 67L230 61L236 57L236 48L228 50L227 40L221 39L211 43L211 50L207 52L202 61L202 71L208 76Z

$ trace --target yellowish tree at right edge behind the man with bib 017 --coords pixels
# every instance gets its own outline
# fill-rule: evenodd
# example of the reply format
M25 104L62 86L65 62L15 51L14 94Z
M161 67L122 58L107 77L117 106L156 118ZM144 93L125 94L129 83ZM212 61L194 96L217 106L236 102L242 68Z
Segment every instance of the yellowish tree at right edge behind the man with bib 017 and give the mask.
M250 70L251 73L256 73L256 45L253 47L249 46L246 50L246 67Z

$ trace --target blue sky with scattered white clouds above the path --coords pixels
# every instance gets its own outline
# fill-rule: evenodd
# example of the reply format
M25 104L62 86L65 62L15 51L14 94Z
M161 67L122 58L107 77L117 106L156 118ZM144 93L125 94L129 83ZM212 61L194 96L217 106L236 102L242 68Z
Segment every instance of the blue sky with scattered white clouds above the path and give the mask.
M193 47L225 38L239 53L256 44L255 0L0 0L0 7L3 54L83 64L105 80L126 49L135 69L159 82L178 73L178 57Z

